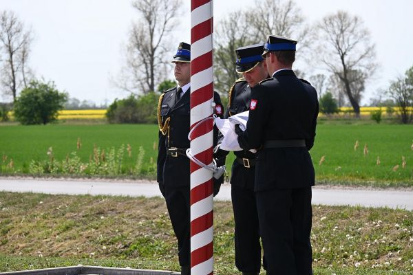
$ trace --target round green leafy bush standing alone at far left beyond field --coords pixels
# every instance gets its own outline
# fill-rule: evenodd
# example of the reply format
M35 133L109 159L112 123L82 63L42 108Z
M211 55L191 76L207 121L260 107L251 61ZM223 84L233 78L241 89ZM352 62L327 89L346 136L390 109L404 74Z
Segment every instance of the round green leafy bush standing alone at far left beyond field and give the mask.
M54 83L32 80L14 103L14 117L23 125L54 122L67 98L68 95L58 91Z

